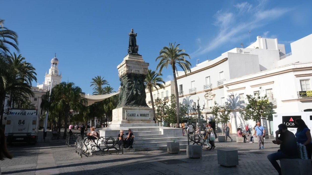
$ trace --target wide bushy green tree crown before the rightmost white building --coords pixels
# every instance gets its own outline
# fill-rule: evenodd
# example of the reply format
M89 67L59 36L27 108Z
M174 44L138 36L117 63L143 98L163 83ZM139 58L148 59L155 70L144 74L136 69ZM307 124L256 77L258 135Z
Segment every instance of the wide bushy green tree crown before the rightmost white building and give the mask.
M260 121L261 118L266 118L266 120L272 121L274 105L269 102L266 95L260 96L259 93L253 95L246 95L248 104L246 105L244 111L240 111L241 116L244 120Z

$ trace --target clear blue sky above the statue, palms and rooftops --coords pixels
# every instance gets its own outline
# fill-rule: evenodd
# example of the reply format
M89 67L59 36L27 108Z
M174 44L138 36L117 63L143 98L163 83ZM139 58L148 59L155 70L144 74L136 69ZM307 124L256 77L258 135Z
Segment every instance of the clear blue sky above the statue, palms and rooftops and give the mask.
M59 59L62 81L92 94L101 75L117 90L116 66L127 54L128 32L138 33L139 54L149 69L163 46L177 42L192 67L260 35L290 42L312 33L312 1L2 1L4 26L19 35L20 53L34 65L38 83ZM172 70L163 70L165 81ZM34 82L34 85L37 83Z

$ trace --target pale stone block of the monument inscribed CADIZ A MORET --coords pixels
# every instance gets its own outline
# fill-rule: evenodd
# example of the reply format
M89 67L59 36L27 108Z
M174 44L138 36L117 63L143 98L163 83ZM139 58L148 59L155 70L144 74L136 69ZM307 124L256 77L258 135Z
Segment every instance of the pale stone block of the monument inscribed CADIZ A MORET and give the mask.
M153 109L121 107L113 110L111 125L155 123Z

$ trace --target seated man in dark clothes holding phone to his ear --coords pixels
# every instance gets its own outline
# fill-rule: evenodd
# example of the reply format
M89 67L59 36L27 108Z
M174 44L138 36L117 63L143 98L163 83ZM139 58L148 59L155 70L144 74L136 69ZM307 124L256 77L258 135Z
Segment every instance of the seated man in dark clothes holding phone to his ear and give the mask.
M280 149L273 154L269 154L268 159L278 174L281 174L280 166L276 161L280 159L298 158L297 141L296 136L287 130L287 126L285 124L280 124L278 126L278 130L275 131L275 134L275 140L272 142L280 145Z

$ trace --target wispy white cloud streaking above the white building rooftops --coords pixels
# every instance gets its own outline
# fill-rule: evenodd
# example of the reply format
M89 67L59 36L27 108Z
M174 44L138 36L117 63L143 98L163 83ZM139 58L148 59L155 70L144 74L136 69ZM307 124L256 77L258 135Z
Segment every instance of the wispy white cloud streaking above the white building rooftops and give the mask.
M252 8L249 3L239 3L234 5L238 9L236 13L226 10L217 11L214 15L215 22L213 25L218 27L218 33L209 41L205 42L204 39L201 39L201 43L204 44L201 44L191 56L196 57L207 54L222 44L247 38L248 30L260 28L293 10L291 8L266 9L265 4L266 1L260 1L255 8Z

